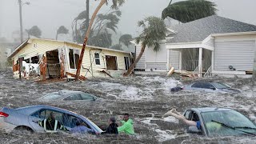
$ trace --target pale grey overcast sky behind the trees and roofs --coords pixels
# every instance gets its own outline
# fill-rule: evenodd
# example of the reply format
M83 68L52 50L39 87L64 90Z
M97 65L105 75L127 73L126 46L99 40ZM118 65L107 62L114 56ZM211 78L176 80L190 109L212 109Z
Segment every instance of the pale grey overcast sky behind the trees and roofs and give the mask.
M73 19L86 9L86 0L22 0L30 5L22 6L23 29L38 26L42 30L42 38L54 38L58 26L70 29ZM180 0L173 0L178 2ZM256 25L256 0L210 0L218 7L218 15ZM170 0L126 0L120 8L122 18L118 28L122 34L138 35L137 22L147 16L161 16L162 10ZM111 3L111 2L110 2ZM90 11L94 10L98 1L90 0ZM100 13L109 10L103 6ZM18 0L0 0L0 37L10 39L12 32L19 30Z

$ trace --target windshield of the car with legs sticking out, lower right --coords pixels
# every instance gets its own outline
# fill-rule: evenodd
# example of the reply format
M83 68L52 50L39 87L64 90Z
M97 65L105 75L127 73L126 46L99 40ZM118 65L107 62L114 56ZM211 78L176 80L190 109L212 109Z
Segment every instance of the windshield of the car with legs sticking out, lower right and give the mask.
M202 118L209 136L238 135L246 134L246 132L256 134L254 123L234 110L204 112ZM220 123L226 126L222 126ZM242 130L246 132L242 132Z

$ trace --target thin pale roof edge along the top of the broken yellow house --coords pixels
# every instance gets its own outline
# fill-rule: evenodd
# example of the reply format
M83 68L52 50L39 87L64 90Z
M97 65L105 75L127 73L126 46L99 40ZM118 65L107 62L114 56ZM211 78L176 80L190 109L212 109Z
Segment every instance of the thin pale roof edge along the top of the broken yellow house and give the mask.
M37 40L42 40L42 41L51 41L51 42L64 42L64 41L57 41L57 40L53 40L53 39L42 39L42 38L30 38L30 39L37 39ZM29 42L30 39L27 39L26 41L22 42L15 50L12 54L10 54L10 56L8 58L12 58L14 57L15 54L18 54L18 52L20 50L22 50L27 43ZM82 44L78 44L76 42L65 42L65 43L69 43L69 44L73 44L73 45L78 45L78 46L82 46ZM104 48L104 47L98 47L98 46L88 46L86 45L86 47L90 47L91 49L98 49L98 50L110 50L110 51L115 51L115 52L119 52L119 53L126 53L126 54L130 54L130 52L127 51L122 51L122 50L114 50L114 49L109 49L109 48Z

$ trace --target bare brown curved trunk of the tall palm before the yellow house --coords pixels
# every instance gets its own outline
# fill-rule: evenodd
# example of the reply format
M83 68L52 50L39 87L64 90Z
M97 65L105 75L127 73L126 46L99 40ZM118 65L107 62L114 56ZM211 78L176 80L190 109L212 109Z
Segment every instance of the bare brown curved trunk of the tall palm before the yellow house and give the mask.
M91 19L90 19L90 24L89 24L89 27L87 29L87 32L86 32L86 37L85 37L85 40L82 44L82 50L81 50L81 54L80 54L80 57L79 57L79 61L78 61L78 67L77 67L77 72L76 72L76 75L75 75L75 80L78 81L78 78L80 76L80 71L81 71L81 66L82 66L82 58L83 58L83 54L85 53L85 49L86 49L86 43L87 43L87 40L90 36L90 29L91 29L91 26L93 25L94 23L94 19L96 18L96 15L98 14L98 11L102 8L102 6L106 3L106 0L102 0L96 10L94 11L94 14L91 16Z

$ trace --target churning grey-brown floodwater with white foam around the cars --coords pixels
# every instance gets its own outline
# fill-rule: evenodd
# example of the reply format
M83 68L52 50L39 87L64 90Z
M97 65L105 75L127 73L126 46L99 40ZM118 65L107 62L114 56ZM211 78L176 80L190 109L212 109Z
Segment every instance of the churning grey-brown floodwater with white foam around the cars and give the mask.
M202 106L230 107L256 122L256 88L251 79L210 78L226 82L242 90L241 94L217 94L182 91L170 93L174 86L194 80L165 76L132 78L93 78L85 82L40 84L30 80L14 80L10 71L0 71L0 107L18 108L46 104L82 114L98 126L107 126L110 116L129 113L134 119L136 135L118 137L70 134L8 134L0 130L0 143L255 143L255 137L206 138L187 134L186 126L173 117L162 118L171 108L183 112ZM36 99L57 90L81 90L102 98L98 102L38 102Z

